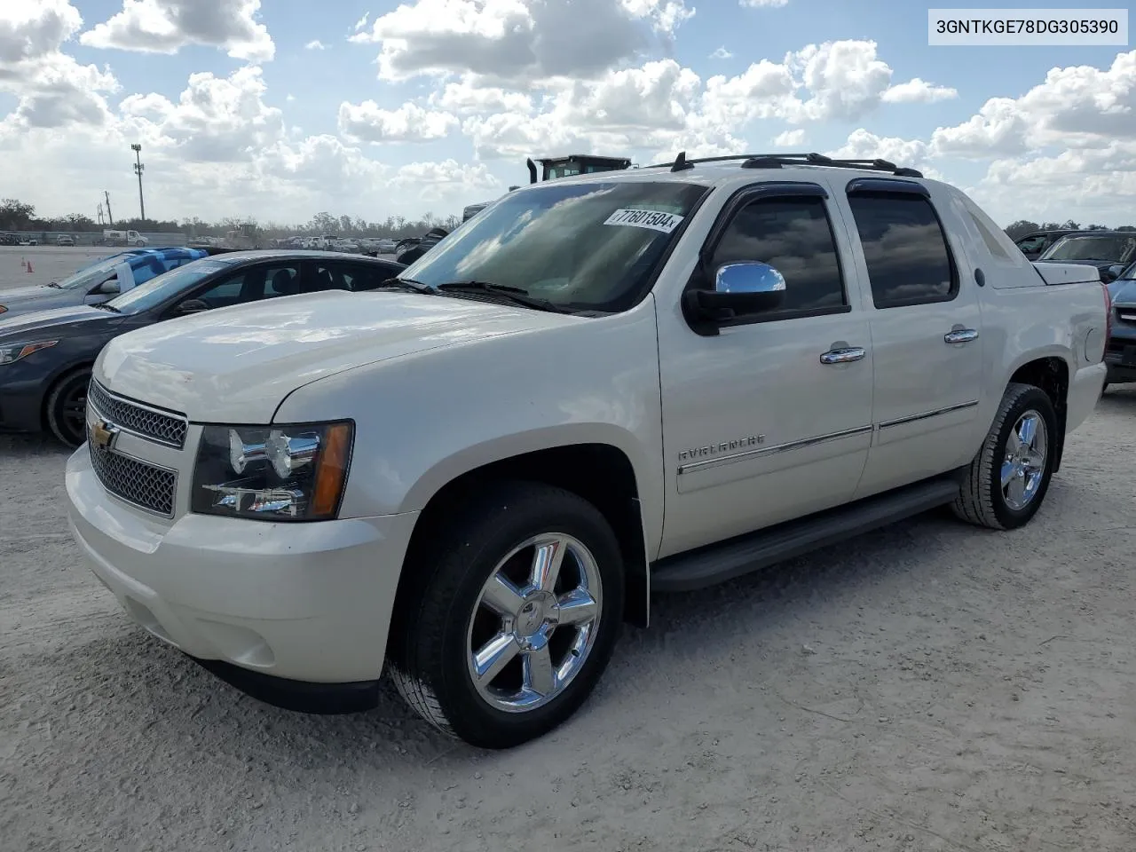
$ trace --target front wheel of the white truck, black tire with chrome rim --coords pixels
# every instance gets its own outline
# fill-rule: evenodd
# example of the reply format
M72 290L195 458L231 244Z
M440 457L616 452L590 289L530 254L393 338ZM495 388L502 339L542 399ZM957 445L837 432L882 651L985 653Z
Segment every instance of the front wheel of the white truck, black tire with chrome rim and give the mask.
M562 488L502 483L476 500L446 516L444 528L407 560L412 586L392 625L390 671L407 703L438 730L474 746L508 749L568 719L600 679L620 629L623 559L600 511ZM537 553L551 548L562 565L542 593L527 578L537 576ZM496 577L512 587L491 586ZM492 590L496 611L510 615L491 609ZM575 617L591 612L590 624L574 626L567 608L552 604L565 604L569 590L579 604ZM493 638L509 662L487 667L479 688L474 650L486 652Z

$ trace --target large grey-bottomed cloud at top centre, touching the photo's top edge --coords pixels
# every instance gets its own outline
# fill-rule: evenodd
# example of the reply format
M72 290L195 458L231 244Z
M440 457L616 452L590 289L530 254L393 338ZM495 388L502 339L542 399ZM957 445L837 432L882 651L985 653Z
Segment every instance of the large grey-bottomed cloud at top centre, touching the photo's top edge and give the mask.
M351 41L381 45L384 80L470 73L524 87L596 77L692 14L682 0L415 0Z

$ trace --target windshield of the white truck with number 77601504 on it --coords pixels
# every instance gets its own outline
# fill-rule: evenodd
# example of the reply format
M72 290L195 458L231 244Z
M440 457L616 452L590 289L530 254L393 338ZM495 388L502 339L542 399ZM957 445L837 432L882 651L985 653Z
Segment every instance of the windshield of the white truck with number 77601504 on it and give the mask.
M485 208L399 277L479 281L562 308L627 310L705 192L669 181L538 184Z

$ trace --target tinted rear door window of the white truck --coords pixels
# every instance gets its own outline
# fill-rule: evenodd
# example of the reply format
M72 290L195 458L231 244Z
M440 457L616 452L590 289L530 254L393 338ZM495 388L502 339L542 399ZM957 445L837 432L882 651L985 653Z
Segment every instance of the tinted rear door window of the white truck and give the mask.
M919 195L854 193L849 204L877 308L955 296L954 264L930 201Z

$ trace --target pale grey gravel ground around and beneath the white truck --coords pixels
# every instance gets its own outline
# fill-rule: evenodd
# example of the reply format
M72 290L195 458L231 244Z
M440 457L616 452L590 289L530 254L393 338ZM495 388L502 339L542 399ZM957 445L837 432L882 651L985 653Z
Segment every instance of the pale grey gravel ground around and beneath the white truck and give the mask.
M1129 852L1134 418L1102 399L1026 529L929 515L657 598L500 753L393 690L312 717L214 679L81 565L66 452L0 437L0 849Z

